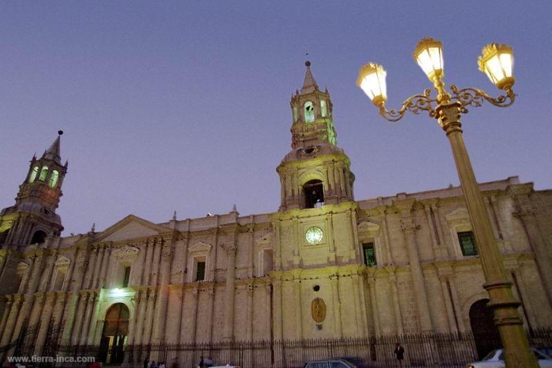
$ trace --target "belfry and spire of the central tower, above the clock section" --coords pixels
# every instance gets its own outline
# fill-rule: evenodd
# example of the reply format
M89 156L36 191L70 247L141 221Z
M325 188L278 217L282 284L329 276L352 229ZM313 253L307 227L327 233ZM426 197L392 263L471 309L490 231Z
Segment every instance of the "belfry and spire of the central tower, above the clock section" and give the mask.
M349 157L336 145L330 94L318 88L311 62L305 66L303 86L290 102L291 151L277 167L280 212L353 201L355 176Z

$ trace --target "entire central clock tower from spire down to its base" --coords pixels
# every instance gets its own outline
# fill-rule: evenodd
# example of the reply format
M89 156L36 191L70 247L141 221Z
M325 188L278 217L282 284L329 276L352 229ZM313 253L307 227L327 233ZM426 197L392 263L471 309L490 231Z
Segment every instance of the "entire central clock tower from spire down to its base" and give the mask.
M291 97L291 151L277 167L281 203L272 216L276 339L366 335L355 176L337 146L333 104L311 63Z

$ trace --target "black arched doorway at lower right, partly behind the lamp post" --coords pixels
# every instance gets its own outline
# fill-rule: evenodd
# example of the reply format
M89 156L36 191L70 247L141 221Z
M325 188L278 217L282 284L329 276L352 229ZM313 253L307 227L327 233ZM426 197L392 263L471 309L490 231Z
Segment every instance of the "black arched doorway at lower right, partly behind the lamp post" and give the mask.
M470 307L470 325L479 359L493 349L500 349L502 342L493 321L493 311L487 306L488 299L477 300Z

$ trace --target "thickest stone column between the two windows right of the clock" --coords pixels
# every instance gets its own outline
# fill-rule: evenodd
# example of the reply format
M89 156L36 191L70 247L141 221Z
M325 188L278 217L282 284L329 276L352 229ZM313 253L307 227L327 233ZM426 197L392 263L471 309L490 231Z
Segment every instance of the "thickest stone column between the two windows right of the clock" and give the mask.
M405 242L408 252L408 261L410 263L410 273L412 274L412 283L414 284L414 293L416 297L416 306L420 318L421 332L431 332L432 324L430 318L430 308L427 304L427 293L425 291L425 280L423 278L422 267L418 257L418 246L416 244L417 226L414 223L414 218L410 217L410 211L414 201L403 201L403 203L395 203L401 210L401 230L405 237Z

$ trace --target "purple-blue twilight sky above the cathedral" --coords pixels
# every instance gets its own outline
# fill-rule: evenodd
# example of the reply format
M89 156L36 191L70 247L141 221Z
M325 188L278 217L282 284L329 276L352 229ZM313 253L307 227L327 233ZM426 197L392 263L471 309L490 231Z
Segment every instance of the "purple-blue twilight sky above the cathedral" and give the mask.
M387 122L356 86L373 61L387 69L389 108L430 87L412 59L427 36L443 42L445 83L492 95L477 56L513 46L517 100L472 107L466 145L479 182L552 188L551 14L549 1L3 1L0 208L63 129L64 234L130 213L274 212L306 59L330 91L357 200L458 185L435 120Z

